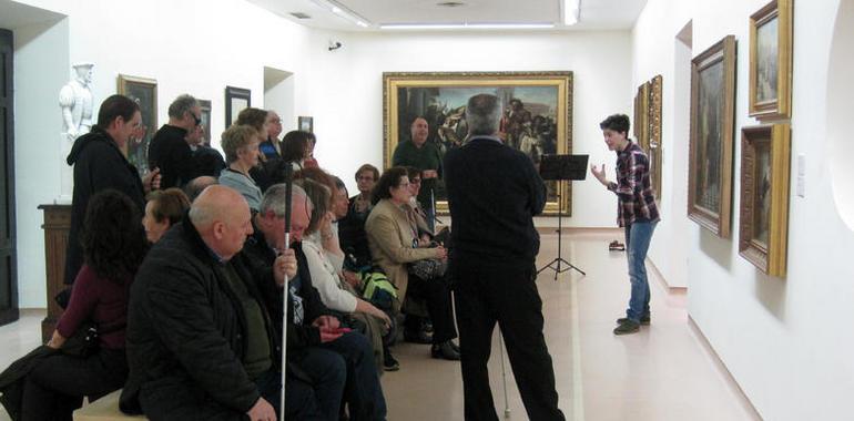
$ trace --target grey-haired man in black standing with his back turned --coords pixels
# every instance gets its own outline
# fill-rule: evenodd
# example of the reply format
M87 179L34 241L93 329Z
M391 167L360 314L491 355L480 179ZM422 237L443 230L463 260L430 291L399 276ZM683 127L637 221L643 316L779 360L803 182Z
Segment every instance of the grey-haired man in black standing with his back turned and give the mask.
M500 119L498 97L469 99L469 140L445 156L466 420L498 420L487 370L496 321L528 418L565 420L535 284L533 216L546 205L546 187L530 158L499 140Z

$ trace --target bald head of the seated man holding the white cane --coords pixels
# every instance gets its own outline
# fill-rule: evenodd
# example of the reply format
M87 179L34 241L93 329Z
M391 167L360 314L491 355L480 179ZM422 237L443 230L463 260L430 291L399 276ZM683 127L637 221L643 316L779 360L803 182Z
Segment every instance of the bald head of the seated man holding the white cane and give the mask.
M246 199L221 185L205 188L190 207L190 222L202 240L225 260L237 254L252 234L250 217Z

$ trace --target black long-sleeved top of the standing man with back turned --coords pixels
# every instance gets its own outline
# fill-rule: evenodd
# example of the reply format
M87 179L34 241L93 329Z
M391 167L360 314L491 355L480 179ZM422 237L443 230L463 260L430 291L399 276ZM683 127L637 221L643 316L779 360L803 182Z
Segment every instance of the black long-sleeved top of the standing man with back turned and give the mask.
M540 248L533 216L546 205L546 186L527 155L475 137L445 155L445 185L453 260L532 264Z

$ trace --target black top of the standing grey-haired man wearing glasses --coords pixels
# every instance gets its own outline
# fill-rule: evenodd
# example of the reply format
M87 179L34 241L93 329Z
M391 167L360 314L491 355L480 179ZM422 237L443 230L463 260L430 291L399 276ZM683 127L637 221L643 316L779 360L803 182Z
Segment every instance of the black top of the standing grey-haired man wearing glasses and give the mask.
M199 176L186 130L164 124L149 145L149 170L160 168L160 188L183 187ZM218 174L217 174L218 176Z

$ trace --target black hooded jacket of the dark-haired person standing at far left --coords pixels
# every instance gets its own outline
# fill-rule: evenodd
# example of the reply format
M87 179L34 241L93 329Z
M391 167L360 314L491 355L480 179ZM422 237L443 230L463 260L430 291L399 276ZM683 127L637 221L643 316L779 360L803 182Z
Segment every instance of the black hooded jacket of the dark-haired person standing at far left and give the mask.
M89 199L101 191L114 188L128 195L145 213L145 191L136 167L125 160L115 141L98 126L78 137L65 160L74 166L74 193L71 202L71 229L65 250L65 284L73 284L83 264L80 230Z

